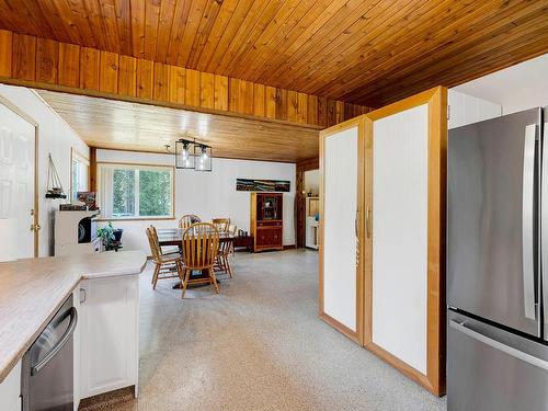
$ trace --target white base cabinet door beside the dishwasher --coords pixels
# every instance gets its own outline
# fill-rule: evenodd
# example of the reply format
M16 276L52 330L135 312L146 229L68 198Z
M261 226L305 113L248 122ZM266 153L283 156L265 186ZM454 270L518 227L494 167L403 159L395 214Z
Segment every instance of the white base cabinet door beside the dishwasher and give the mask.
M81 288L81 398L137 387L138 276L84 281Z

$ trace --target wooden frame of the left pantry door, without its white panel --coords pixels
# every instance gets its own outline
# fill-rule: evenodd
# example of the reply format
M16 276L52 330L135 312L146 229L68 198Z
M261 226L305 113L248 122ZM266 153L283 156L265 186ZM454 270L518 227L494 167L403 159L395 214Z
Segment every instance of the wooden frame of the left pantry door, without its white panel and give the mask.
M365 233L364 233L364 216L363 216L363 204L364 204L364 189L365 189L365 129L364 129L365 117L363 115L347 119L343 123L339 123L330 128L320 132L320 225L319 225L319 282L318 282L318 300L319 300L319 317L328 324L333 327L335 330L340 331L342 334L346 335L354 342L363 345L364 336L364 261L361 255L364 255L365 247ZM324 201L326 201L326 179L324 179L324 155L326 155L326 139L335 133L342 130L357 127L357 198L356 198L356 331L351 330L340 321L335 320L333 317L329 316L324 311L323 306L323 225L324 225Z

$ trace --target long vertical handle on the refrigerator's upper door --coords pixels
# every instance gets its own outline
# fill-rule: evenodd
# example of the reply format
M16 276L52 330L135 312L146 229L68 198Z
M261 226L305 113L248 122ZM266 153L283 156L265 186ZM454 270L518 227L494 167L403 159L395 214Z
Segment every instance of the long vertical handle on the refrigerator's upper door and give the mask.
M535 150L537 125L525 127L523 149L522 267L525 317L536 319L535 306Z

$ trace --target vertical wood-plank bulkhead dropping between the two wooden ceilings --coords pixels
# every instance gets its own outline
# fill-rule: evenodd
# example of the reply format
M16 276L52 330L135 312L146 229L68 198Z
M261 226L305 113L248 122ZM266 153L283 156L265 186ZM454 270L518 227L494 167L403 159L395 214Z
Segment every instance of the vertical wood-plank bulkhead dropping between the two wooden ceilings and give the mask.
M0 81L328 127L370 111L318 95L0 31Z

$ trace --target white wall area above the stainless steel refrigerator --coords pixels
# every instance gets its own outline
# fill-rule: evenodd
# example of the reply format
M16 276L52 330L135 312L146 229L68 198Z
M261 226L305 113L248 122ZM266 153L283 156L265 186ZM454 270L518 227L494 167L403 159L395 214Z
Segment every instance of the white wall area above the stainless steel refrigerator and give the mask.
M502 114L548 105L548 54L459 84L453 90L502 105Z

